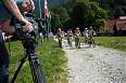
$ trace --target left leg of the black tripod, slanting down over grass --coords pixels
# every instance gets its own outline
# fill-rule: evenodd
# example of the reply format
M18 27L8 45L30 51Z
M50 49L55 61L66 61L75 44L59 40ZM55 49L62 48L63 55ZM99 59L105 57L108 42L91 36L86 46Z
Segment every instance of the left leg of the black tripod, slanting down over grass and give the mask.
M14 82L15 82L15 79L16 79L16 77L17 77L17 74L18 74L21 68L23 67L23 64L26 61L26 58L27 58L27 56L25 56L24 58L22 58L22 59L20 60L20 65L18 65L16 71L15 71L13 78L12 78L11 83L14 83Z

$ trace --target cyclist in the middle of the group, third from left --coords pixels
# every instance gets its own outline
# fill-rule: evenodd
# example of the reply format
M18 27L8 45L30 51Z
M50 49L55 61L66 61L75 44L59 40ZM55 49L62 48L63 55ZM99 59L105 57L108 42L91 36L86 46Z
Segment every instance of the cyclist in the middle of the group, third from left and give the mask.
M81 33L79 31L79 28L77 27L75 29L75 33L74 33L74 37L75 37L75 47L76 49L80 49L80 39L79 39L80 36L81 36Z

